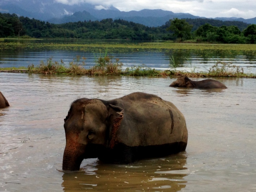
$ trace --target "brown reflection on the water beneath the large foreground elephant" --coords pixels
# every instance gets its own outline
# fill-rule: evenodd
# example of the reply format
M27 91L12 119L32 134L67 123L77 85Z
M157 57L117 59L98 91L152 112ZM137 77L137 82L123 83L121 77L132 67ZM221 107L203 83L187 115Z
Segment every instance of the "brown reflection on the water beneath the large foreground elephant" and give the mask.
M64 173L64 191L180 191L186 187L186 154L142 160L129 165L87 162L78 172Z

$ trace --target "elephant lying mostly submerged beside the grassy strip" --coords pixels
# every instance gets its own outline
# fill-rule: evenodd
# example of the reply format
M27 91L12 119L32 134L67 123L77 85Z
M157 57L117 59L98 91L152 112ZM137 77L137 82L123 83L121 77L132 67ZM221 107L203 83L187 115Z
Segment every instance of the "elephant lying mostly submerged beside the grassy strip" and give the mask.
M173 81L170 87L182 87L182 88L198 88L198 89L226 89L227 87L219 81L206 79L202 81L192 81L187 76L178 77L176 81Z

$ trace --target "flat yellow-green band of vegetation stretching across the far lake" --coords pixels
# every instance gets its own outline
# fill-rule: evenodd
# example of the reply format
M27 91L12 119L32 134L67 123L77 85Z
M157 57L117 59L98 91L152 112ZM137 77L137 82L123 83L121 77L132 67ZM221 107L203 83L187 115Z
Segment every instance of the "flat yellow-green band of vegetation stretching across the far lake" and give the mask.
M14 42L5 42L5 39L0 38L0 49L50 49L50 50L113 50L118 49L120 52L131 50L165 50L165 49L182 49L182 50L235 50L235 51L254 51L256 52L256 44L208 44L208 43L173 43L172 41L158 41L150 43L90 43L90 44L75 44L75 43L35 43L34 41L26 41L21 43L19 40ZM31 39L34 40L34 39Z

